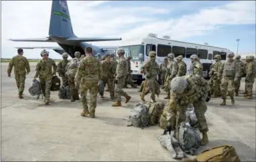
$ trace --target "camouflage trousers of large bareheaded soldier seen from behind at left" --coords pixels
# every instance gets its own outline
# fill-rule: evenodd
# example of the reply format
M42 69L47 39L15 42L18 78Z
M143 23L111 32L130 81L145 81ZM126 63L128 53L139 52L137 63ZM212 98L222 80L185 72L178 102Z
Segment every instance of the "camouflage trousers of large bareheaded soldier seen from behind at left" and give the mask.
M86 99L87 91L90 91L90 107L88 109L88 102ZM97 93L99 90L98 82L90 83L88 81L81 81L80 84L80 95L82 108L88 110L90 113L94 114L97 107Z

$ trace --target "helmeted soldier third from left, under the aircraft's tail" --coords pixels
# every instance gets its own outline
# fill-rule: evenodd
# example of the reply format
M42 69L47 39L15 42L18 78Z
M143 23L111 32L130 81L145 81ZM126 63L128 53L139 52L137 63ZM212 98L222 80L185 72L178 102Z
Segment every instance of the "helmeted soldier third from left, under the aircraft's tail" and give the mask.
M68 76L66 75L66 65L68 65L68 53L62 54L63 60L57 65L57 71L59 76L62 78L62 85L66 87L68 85Z

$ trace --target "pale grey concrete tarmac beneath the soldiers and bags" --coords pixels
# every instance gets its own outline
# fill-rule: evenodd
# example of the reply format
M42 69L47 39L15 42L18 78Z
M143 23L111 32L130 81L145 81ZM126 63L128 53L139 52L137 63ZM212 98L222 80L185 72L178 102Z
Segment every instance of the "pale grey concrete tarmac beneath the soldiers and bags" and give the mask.
M140 101L137 89L125 89L132 98L123 107L111 107L105 92L97 101L97 117L81 117L80 102L58 99L58 92L51 92L50 105L29 95L36 63L30 65L24 99L18 99L14 74L7 77L7 63L1 63L1 161L175 161L157 140L163 129L127 127L129 112ZM235 105L230 99L224 107L221 99L208 103L210 142L200 150L230 144L241 161L256 161L255 91L253 100L244 99L244 87L243 79ZM165 95L162 91L157 101Z

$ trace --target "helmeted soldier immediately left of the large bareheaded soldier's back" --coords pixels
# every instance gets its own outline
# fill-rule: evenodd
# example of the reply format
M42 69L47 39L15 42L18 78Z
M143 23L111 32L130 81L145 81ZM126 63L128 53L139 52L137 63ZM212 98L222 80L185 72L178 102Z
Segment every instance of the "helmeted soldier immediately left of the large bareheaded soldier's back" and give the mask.
M68 65L66 65L66 75L68 76L68 84L70 85L70 101L71 102L75 101L74 96L75 96L76 91L77 90L79 91L79 86L80 86L80 80L78 81L77 87L75 87L75 85L74 85L74 83L75 83L74 77L76 75L78 65L80 63L80 61L79 61L80 52L75 52L74 56L75 56L75 58L72 59L68 63Z

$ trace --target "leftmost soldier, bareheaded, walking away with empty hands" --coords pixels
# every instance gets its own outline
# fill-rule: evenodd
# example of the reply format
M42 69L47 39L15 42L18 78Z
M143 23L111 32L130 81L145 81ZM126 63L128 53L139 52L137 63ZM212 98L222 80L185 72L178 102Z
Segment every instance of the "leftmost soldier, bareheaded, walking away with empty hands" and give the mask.
M17 50L18 55L13 57L9 63L7 69L8 77L11 77L11 70L14 66L14 75L16 80L16 85L18 89L19 99L23 99L23 91L25 87L25 74L30 72L29 62L27 58L23 56L23 49Z

